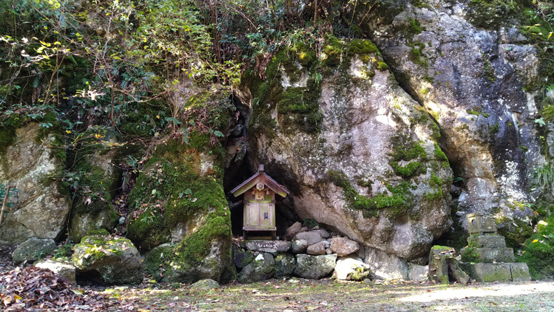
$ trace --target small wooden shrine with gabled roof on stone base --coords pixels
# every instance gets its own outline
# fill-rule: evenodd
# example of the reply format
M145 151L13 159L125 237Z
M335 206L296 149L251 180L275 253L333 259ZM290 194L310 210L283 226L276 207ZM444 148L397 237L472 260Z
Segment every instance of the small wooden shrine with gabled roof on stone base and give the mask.
M285 198L289 191L265 174L264 165L260 165L256 174L231 193L235 197L244 194L243 239L247 239L252 232L258 232L258 236L266 236L264 232L269 232L271 238L276 239L275 194Z

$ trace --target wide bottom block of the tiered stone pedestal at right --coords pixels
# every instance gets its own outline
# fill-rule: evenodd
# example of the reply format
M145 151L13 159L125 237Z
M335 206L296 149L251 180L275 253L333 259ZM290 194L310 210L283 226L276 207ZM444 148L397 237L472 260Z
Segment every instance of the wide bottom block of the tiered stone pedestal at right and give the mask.
M525 263L462 264L463 269L477 282L528 282L531 280Z

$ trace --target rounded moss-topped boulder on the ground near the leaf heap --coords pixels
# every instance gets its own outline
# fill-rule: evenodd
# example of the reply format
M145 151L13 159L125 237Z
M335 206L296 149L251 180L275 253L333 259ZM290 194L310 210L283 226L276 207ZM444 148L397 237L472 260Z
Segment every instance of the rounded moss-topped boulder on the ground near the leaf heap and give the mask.
M71 261L78 275L94 271L105 284L137 284L143 280L139 250L125 237L83 237L75 245Z

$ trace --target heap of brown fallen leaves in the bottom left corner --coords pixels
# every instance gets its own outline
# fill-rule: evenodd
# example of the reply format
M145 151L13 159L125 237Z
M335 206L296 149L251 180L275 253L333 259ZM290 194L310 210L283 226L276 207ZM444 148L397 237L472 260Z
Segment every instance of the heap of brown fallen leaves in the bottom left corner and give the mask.
M30 266L0 274L0 300L8 309L102 310L100 296L75 288L51 270Z

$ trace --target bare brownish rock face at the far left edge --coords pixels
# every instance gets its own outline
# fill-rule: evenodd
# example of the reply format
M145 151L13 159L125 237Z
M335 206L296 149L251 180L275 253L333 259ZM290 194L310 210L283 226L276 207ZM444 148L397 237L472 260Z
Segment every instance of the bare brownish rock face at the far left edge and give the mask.
M30 122L15 131L15 142L0 154L0 183L17 188L10 196L0 227L0 241L19 244L30 237L57 239L64 231L70 203L60 193L57 183L49 180L60 174L63 163L53 156L54 136L40 138L44 129Z

